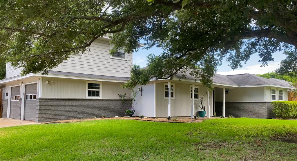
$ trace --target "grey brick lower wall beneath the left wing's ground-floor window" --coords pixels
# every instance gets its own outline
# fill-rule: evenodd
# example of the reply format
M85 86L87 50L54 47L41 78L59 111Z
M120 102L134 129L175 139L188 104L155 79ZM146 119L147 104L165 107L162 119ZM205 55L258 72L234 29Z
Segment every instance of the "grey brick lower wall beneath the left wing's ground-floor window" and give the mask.
M37 98L36 122L124 116L130 100Z

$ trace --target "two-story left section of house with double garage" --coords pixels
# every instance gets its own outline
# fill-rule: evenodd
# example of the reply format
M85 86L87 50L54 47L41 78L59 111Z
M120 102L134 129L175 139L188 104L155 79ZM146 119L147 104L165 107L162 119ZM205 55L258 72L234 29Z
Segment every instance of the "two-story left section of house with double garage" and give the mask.
M3 118L36 122L61 119L123 116L131 107L129 97L122 102L118 94L130 77L133 54L117 52L107 36L95 40L89 52L73 56L48 75L20 75L7 63L3 89ZM129 96L129 94L128 94Z

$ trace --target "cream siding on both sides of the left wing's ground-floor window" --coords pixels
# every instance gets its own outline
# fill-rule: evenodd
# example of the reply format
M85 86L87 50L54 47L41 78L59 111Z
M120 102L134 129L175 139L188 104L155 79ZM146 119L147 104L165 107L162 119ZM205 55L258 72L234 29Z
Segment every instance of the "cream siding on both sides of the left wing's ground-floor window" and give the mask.
M49 85L46 81L53 81ZM102 99L120 99L118 94L127 93L131 98L131 91L123 89L117 82L102 82ZM42 97L45 98L86 98L86 80L65 78L42 78Z

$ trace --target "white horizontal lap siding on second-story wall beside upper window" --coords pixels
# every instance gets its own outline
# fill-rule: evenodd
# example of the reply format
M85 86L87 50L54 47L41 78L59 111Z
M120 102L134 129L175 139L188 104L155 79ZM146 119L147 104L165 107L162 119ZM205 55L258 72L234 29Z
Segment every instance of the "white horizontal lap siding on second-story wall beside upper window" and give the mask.
M126 54L127 60L110 58L110 43L105 40L95 40L89 52L73 56L64 61L54 71L74 72L94 75L130 77L132 54Z

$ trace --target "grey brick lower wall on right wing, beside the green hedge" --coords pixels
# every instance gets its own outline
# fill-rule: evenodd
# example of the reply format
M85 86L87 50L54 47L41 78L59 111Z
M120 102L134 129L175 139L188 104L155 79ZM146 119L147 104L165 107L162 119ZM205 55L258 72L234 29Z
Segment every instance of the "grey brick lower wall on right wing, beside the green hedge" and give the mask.
M225 102L226 117L250 117L271 119L275 115L272 113L271 102ZM217 116L222 116L223 102L215 102Z

